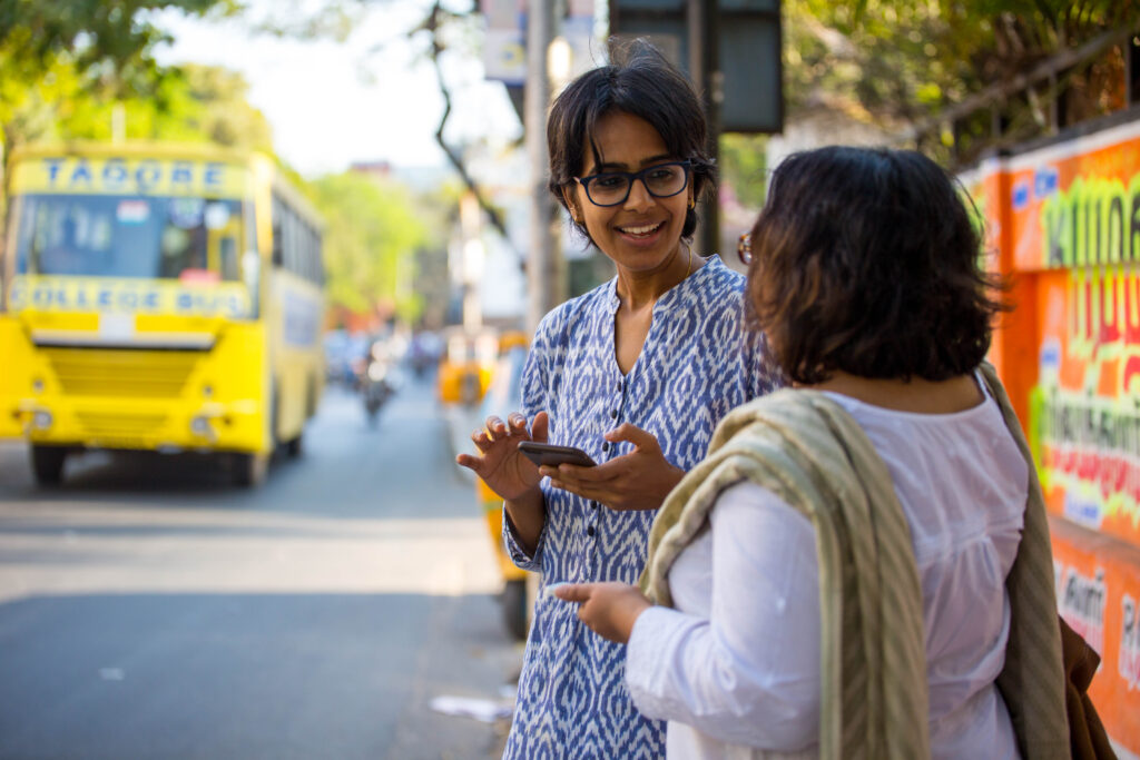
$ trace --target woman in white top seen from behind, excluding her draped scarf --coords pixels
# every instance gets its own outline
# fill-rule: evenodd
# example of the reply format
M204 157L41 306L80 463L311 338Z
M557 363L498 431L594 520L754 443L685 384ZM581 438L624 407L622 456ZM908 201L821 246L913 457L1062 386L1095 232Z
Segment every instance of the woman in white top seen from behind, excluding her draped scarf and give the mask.
M977 373L999 307L951 179L909 152L797 154L742 256L773 360L854 418L893 481L921 586L931 754L1018 757L994 681L1028 466ZM812 757L817 563L813 524L744 481L671 564L675 608L617 583L555 595L628 641L626 681L644 714L669 721L668 757Z

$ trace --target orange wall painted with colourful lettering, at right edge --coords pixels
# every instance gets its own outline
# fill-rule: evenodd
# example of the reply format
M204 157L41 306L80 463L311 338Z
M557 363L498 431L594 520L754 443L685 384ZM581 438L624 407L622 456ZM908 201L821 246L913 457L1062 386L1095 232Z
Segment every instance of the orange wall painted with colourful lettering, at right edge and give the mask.
M1016 304L991 360L1052 515L1061 613L1102 657L1109 735L1140 754L1140 121L962 181Z

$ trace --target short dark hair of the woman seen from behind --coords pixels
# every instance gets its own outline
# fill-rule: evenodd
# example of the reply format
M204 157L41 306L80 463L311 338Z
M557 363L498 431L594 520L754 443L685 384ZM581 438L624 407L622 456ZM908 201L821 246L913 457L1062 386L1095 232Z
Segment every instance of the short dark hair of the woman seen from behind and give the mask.
M828 147L772 174L751 231L751 321L787 379L942 381L990 349L1000 280L972 202L920 153Z

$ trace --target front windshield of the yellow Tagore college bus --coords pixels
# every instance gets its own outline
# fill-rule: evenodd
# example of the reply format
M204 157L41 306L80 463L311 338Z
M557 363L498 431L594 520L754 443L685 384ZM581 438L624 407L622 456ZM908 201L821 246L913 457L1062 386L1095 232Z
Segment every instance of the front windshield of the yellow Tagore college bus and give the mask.
M16 273L242 281L242 227L234 199L23 195Z

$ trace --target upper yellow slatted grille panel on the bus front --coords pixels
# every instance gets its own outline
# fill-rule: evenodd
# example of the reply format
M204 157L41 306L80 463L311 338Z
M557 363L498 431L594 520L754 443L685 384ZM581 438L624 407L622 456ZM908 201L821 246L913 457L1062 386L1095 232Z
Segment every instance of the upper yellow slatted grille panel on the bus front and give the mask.
M47 353L65 395L177 399L201 354L174 351L52 349Z

